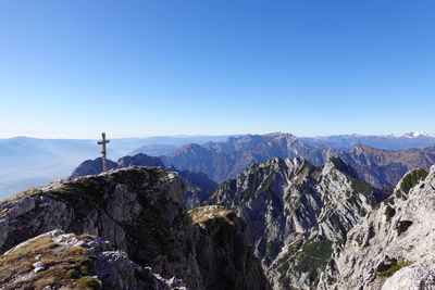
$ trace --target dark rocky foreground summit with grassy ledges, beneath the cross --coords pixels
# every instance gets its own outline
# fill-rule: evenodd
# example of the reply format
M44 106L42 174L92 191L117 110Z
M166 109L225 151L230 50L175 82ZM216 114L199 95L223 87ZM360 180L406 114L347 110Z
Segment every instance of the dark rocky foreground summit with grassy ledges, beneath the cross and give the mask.
M0 289L270 289L241 219L194 222L158 167L24 191L0 202Z

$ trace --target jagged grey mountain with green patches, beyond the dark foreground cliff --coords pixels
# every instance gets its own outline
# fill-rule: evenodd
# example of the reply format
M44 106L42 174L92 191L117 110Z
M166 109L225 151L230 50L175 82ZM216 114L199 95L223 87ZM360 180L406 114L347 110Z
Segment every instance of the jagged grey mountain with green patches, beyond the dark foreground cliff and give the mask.
M274 289L291 289L315 287L347 231L383 198L340 159L323 167L272 159L223 182L209 202L247 220Z

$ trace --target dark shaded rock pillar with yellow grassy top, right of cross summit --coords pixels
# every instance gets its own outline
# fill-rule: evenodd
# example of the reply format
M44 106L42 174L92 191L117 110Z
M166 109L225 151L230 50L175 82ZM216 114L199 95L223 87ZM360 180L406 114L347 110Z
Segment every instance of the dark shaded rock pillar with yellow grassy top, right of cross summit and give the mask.
M222 206L189 211L199 229L197 260L206 289L270 289L250 244L249 228L234 212ZM220 266L216 266L220 265Z

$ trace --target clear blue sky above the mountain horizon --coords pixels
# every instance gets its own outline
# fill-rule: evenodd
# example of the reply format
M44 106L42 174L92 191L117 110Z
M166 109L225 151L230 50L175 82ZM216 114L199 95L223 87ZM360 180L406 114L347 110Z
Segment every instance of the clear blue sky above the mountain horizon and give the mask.
M435 131L435 1L0 2L0 138Z

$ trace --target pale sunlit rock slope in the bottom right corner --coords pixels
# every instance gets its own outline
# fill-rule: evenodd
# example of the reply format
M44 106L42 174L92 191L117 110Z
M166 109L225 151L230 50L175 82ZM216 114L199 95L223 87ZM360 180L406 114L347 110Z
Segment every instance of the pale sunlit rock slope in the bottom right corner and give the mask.
M348 234L339 289L435 288L435 166L408 173L395 194Z

